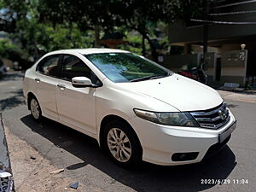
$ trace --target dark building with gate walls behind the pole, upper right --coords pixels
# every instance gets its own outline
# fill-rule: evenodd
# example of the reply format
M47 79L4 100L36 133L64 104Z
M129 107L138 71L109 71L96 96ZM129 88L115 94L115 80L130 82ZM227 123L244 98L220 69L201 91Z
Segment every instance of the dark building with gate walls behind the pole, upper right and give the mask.
M209 20L217 22L208 28L208 80L219 85L256 84L256 1L213 1ZM177 20L170 24L169 42L183 46L184 55L166 55L165 65L177 70L189 62L200 63L203 37L203 22ZM244 50L241 44L246 45Z

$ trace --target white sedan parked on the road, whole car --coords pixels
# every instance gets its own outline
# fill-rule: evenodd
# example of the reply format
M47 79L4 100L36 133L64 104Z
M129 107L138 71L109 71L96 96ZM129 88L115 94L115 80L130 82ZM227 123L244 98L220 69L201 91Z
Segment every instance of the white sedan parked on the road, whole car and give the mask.
M119 49L66 49L26 71L33 119L95 138L120 166L200 162L230 139L236 120L216 90Z

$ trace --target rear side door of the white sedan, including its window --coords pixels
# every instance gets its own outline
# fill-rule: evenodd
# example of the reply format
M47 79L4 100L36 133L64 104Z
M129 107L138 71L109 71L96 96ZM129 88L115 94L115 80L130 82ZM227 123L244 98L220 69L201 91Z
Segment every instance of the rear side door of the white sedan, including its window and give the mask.
M49 55L40 61L37 66L37 77L34 79L36 95L43 114L55 119L58 119L55 90L57 78L60 76L60 58L61 55Z

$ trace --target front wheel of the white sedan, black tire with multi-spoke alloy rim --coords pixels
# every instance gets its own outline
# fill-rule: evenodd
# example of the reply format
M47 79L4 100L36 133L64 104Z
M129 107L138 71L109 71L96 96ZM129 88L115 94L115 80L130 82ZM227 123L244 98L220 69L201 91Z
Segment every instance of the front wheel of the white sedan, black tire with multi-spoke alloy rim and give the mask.
M132 167L142 161L143 149L136 133L127 123L109 122L102 136L102 148L114 163L123 167Z

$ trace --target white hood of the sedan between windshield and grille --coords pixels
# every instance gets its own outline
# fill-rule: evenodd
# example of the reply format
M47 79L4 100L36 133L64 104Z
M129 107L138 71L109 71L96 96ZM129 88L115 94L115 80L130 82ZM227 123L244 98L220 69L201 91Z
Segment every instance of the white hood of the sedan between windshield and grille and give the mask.
M206 110L223 102L216 90L176 73L161 79L121 83L121 86L166 102L179 111Z

